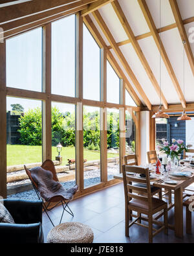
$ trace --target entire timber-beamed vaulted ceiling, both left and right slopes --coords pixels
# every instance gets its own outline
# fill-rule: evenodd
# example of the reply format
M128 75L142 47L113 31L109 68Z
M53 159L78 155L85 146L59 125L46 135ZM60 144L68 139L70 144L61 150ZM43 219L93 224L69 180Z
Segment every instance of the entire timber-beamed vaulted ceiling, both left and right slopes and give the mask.
M5 0L0 7L0 39L80 11L138 106L151 110L160 95L166 109L194 103L194 0Z

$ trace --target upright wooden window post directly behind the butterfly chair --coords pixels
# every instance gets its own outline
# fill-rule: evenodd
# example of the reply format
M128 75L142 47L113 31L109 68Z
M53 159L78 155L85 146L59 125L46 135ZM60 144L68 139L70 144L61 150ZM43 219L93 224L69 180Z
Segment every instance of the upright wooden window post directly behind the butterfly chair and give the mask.
M51 23L43 27L43 93L42 101L42 137L43 161L52 159L52 117L51 117Z

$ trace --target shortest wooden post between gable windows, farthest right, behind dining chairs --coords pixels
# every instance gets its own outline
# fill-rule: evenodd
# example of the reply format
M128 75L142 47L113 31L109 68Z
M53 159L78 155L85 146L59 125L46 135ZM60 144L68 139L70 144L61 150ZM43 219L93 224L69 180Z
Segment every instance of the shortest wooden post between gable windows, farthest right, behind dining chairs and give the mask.
M120 104L125 105L125 83L120 79ZM124 165L125 156L125 108L119 109L119 129L120 129L120 172L122 172L122 165Z

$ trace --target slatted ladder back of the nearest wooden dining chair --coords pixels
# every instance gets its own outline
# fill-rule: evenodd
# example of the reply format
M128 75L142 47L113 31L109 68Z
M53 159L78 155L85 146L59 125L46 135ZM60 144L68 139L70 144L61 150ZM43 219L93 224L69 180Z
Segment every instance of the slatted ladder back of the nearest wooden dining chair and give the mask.
M125 204L129 204L131 199L135 198L144 202L148 202L149 207L151 207L151 185L149 179L149 169L123 165L122 170L124 176ZM136 176L127 175L126 172L134 172ZM145 174L146 178L140 178L140 174ZM146 184L146 187L142 188L138 183L144 183Z

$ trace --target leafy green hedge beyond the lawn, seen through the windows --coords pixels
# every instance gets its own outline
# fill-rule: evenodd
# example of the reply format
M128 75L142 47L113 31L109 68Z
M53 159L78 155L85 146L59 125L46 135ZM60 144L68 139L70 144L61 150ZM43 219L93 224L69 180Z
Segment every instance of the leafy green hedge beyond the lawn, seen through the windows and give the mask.
M119 119L117 113L108 113L107 145L109 148L119 146ZM41 145L41 108L28 110L19 118L20 141L23 145ZM61 113L58 108L52 108L52 145L75 145L75 115ZM98 111L85 113L83 111L83 146L100 148L100 115Z

